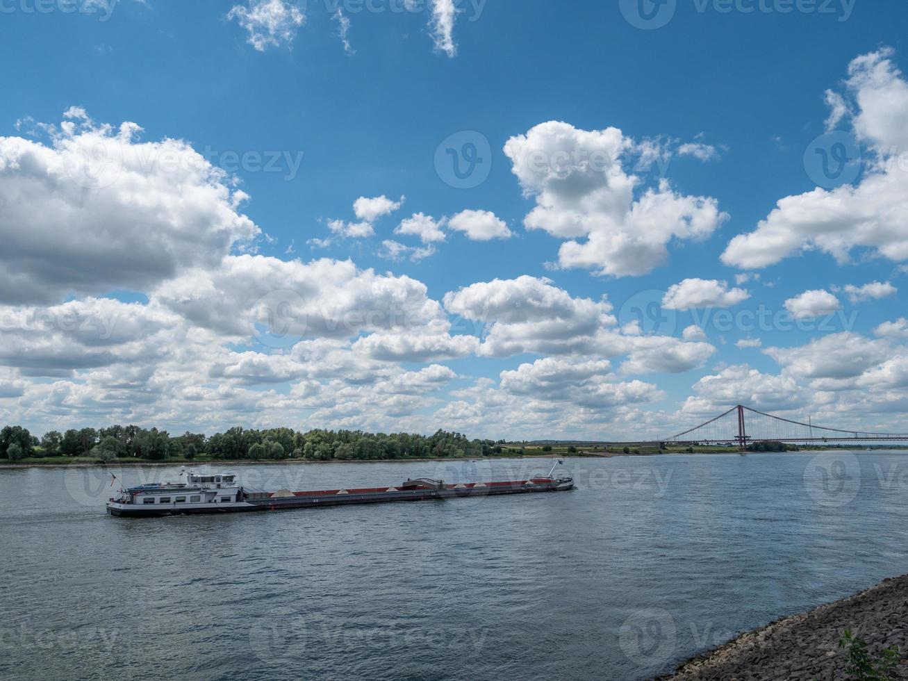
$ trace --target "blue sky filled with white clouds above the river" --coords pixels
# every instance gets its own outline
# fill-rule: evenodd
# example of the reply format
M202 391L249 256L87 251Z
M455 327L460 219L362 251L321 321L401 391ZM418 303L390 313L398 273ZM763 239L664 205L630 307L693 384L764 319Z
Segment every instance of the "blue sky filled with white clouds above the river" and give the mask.
M0 420L619 438L739 401L867 428L903 419L908 113L892 103L908 9L404 5L0 2L15 64L0 98ZM123 122L142 131L118 136ZM465 144L481 163L458 181ZM583 165L613 144L607 168ZM137 165L97 182L98 148L105 163L138 149ZM842 150L862 162L824 174ZM536 153L545 167L521 172ZM225 173L183 173L200 154ZM86 158L89 186L47 181ZM627 212L604 208L625 182ZM647 191L666 205L647 213ZM360 197L386 207L363 220ZM649 250L620 252L616 234ZM290 342L262 342L268 311L289 309L269 308L271 291L306 308ZM376 296L419 320L346 337L312 323L318 301L329 316L386 313ZM62 304L98 337L60 321ZM751 328L760 311L774 321Z

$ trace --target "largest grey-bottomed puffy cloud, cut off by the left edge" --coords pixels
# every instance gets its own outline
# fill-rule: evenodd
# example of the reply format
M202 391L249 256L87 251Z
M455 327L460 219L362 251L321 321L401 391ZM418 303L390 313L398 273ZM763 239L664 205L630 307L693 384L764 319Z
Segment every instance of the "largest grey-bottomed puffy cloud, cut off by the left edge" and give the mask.
M260 233L245 193L188 143L67 115L47 144L0 137L0 302L144 290Z

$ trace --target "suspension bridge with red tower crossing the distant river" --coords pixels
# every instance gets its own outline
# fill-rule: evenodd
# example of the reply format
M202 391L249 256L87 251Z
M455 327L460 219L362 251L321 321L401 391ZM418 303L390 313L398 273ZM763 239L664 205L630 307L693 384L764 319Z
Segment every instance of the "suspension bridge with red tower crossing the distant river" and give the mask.
M737 445L742 451L757 442L817 444L823 442L908 442L908 433L843 430L784 419L737 405L715 419L662 440L676 445Z

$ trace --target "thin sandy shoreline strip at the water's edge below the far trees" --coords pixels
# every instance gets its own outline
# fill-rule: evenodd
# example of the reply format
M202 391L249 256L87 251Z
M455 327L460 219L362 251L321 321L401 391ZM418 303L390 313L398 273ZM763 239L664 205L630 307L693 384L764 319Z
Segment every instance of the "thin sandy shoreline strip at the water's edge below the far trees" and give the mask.
M866 454L864 449L801 449L799 452L773 452L773 451L663 451L663 452L639 452L625 453L623 451L596 451L580 454L565 455L558 452L546 452L545 454L513 454L499 457L464 457L455 459L451 457L429 457L422 459L328 459L325 461L317 459L218 459L218 460L198 460L198 461L157 461L157 460L130 460L114 459L108 463L91 462L91 461L73 461L72 463L61 463L54 461L51 463L40 463L29 461L27 463L5 463L0 461L0 470L4 469L71 469L71 468L131 468L135 466L277 466L281 464L325 464L325 463L418 463L419 461L495 461L500 459L618 459L621 457L628 458L645 458L645 457L698 457L705 455L722 455L722 456L755 456L758 454L811 454L826 453L834 451L848 451L855 454ZM898 449L873 449L877 451L899 451Z

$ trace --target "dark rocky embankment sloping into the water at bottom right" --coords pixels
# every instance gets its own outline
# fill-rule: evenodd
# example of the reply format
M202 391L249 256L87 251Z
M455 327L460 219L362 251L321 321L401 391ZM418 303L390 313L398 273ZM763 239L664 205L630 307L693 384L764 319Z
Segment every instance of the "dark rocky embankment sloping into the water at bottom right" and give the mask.
M743 634L679 666L673 681L769 681L847 679L848 656L839 648L845 629L863 638L877 656L899 646L902 662L893 678L908 678L908 575L804 615L785 617Z

